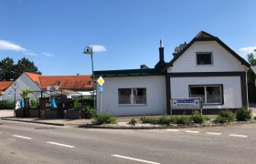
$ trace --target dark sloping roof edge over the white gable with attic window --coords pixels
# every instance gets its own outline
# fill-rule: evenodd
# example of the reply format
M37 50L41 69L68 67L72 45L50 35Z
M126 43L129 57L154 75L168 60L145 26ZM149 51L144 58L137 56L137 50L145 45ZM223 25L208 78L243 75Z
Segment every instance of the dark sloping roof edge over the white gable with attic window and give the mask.
M227 46L225 43L223 43L218 37L212 36L208 34L207 32L200 31L197 36L195 36L188 44L185 46L179 53L174 56L174 58L162 69L162 71L165 71L168 67L172 67L173 64L176 62L176 59L179 58L179 56L182 56L187 49L192 46L195 42L202 42L202 41L216 41L219 43L220 46L224 47L232 56L236 57L242 65L245 65L246 67L251 67L251 65L243 59L241 56L239 56L235 51L233 51L229 46Z

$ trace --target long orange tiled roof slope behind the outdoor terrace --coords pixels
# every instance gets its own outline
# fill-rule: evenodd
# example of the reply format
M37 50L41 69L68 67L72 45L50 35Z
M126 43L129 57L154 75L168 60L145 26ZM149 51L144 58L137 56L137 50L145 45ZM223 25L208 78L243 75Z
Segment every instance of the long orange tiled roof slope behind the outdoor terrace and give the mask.
M59 86L61 89L91 89L93 83L91 76L41 76L39 77L42 89L48 86Z

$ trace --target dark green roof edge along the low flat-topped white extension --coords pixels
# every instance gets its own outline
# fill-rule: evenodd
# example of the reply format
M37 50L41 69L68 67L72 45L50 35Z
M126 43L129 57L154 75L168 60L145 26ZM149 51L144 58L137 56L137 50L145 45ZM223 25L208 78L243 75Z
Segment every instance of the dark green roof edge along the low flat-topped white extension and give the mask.
M155 75L162 75L161 70L155 69L155 68L149 68L149 69L94 71L95 77L137 77L137 76L155 76Z

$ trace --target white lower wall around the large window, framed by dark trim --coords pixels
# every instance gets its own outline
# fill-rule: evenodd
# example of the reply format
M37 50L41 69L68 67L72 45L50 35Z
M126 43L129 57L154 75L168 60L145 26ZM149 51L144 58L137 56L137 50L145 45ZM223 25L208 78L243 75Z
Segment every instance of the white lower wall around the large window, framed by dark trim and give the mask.
M224 104L203 108L241 108L240 77L172 77L171 97L189 97L189 85L223 85Z

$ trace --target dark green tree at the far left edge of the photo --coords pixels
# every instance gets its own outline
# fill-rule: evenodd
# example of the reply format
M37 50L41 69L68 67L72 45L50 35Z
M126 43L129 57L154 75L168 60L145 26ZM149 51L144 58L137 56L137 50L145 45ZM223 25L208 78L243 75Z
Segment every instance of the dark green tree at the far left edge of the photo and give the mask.
M15 78L14 72L14 60L10 57L6 57L0 61L0 80L12 80Z

